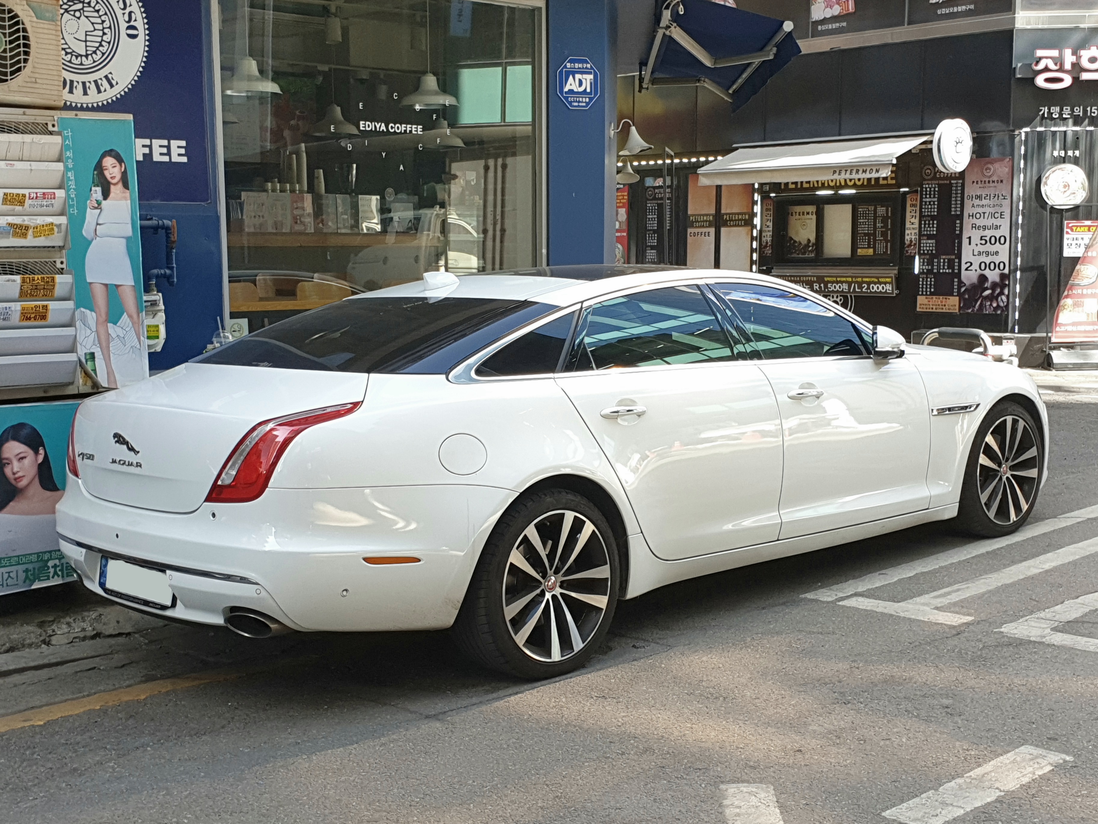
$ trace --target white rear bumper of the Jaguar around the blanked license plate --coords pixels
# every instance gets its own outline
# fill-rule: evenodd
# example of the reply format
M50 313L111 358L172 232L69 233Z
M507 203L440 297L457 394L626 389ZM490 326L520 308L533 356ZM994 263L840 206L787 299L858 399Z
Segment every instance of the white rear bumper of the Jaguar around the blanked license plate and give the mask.
M172 514L93 498L70 476L57 532L88 589L153 615L222 625L237 606L299 631L438 630L453 623L514 494L472 486L269 489L251 503ZM103 592L104 555L163 569L175 605ZM370 555L421 560L373 566L362 560Z

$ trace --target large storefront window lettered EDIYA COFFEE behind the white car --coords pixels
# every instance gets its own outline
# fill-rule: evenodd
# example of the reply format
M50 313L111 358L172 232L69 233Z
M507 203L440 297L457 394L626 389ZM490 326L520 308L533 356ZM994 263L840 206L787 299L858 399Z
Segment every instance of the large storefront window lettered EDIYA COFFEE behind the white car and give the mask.
M232 315L536 265L540 26L480 0L223 0Z

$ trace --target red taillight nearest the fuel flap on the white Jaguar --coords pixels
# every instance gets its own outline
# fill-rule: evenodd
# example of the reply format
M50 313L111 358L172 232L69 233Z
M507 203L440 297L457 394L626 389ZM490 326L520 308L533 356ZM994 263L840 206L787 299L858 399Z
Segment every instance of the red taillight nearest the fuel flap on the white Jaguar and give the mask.
M257 423L229 454L206 501L247 503L256 500L267 491L274 467L298 435L310 426L349 415L361 405L361 402L344 403Z

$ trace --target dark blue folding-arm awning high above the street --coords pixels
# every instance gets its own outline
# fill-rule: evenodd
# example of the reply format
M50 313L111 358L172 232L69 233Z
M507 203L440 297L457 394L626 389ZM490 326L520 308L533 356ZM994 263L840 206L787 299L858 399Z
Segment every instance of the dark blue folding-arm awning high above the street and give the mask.
M793 23L713 0L666 0L641 90L696 83L736 111L800 54L792 31Z

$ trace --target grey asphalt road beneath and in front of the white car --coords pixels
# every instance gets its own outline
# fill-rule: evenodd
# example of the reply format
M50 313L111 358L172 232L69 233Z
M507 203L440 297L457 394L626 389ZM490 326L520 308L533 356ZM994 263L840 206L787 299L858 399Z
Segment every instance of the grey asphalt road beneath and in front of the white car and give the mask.
M552 682L445 633L0 656L0 821L1094 824L1098 597L1029 616L1098 591L1098 387L1050 400L1029 537L938 524L668 587Z

